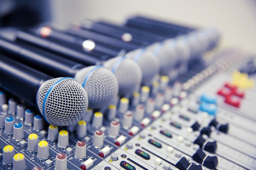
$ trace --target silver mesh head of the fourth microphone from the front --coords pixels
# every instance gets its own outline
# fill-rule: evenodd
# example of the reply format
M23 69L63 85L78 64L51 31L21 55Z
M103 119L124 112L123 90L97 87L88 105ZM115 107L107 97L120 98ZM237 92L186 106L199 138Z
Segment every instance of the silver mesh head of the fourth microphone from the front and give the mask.
M126 56L137 62L142 71L142 84L148 85L155 74L159 73L160 62L157 56L145 49L130 51Z

